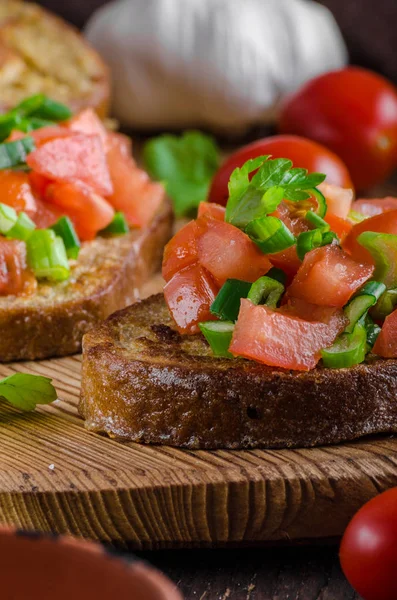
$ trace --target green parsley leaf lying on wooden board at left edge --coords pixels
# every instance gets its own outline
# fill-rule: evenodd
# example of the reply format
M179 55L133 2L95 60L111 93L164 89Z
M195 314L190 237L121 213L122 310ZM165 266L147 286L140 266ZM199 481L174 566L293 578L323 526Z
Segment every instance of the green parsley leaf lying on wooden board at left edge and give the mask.
M0 398L20 410L34 410L37 404L49 404L57 398L54 386L48 377L14 373L0 381Z

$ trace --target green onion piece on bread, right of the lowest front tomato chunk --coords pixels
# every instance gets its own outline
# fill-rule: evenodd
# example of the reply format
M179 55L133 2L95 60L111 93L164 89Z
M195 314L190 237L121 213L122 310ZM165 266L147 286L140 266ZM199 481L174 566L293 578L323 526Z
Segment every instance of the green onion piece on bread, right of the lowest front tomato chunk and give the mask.
M353 367L365 360L367 332L356 324L352 333L342 333L330 348L321 351L323 364L330 369Z

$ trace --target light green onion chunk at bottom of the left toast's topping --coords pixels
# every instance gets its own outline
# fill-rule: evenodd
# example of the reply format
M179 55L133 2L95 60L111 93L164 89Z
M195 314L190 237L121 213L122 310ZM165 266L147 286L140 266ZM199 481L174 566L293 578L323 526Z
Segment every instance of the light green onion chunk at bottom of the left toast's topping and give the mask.
M26 241L28 265L37 279L64 281L70 268L65 244L51 229L36 229Z

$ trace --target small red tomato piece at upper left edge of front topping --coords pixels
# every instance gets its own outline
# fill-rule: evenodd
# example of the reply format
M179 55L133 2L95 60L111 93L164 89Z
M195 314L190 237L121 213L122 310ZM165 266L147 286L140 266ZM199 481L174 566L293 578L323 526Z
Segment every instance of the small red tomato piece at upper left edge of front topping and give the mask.
M164 248L163 277L169 281L177 271L197 262L196 221L182 227Z

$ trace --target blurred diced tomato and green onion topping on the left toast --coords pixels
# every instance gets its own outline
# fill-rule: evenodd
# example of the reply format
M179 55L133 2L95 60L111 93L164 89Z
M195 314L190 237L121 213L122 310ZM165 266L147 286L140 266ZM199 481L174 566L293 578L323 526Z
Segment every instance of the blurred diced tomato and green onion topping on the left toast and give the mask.
M70 276L81 242L143 227L163 187L91 110L43 95L0 116L0 296Z

